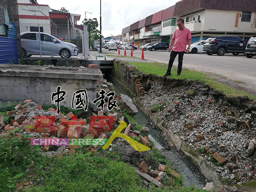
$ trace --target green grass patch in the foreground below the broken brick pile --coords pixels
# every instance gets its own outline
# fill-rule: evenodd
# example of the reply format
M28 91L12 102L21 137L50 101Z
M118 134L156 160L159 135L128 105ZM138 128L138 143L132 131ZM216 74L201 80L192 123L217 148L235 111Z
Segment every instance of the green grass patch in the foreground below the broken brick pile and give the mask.
M24 143L16 137L0 139L0 192L13 192L16 183L27 181L33 181L34 186L22 191L167 192L172 189L177 192L203 192L192 186L182 186L182 177L173 179L169 183L171 186L165 189L153 184L150 189L145 189L135 170L119 160L118 153L108 150L101 149L92 154L80 147L70 156L49 158L39 155L40 150L39 146L29 145L29 141ZM163 160L159 153L154 154L157 160ZM29 174L26 169L30 170ZM26 177L32 173L34 177ZM40 175L44 180L37 180Z

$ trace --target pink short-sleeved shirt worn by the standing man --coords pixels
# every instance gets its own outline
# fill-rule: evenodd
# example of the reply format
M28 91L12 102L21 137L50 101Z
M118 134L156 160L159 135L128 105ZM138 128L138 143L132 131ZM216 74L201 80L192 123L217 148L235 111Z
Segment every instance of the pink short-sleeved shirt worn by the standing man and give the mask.
M172 38L175 39L172 50L176 52L183 52L186 50L188 40L191 39L191 32L186 27L182 30L176 29Z

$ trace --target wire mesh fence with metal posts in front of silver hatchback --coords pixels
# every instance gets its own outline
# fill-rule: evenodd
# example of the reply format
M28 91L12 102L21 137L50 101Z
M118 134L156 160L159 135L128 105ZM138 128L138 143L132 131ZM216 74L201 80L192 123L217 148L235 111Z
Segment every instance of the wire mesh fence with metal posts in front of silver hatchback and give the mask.
M83 27L20 23L20 38L23 57L87 58L83 51L87 39Z

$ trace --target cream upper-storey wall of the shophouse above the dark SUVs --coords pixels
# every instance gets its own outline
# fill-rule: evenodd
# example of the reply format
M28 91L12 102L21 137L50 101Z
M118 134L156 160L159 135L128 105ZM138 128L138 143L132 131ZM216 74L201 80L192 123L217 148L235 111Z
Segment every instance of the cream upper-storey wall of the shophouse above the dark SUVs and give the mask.
M242 14L242 11L207 9L205 13L206 22L204 23L204 31L216 29L215 31L223 32L253 32L255 12L252 12L250 22L242 22L241 17L239 17L238 27L236 29L235 24L237 13Z

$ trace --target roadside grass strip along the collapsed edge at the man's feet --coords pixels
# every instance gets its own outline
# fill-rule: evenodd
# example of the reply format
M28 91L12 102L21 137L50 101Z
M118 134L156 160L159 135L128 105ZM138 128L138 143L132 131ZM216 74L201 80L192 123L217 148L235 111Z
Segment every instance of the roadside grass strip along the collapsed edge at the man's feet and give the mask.
M140 70L143 73L146 74L155 74L157 76L163 76L166 73L167 64L162 63L138 63L138 62L129 62L129 64L133 64L136 67L138 67L138 70ZM243 91L235 90L227 85L221 84L217 81L215 81L213 78L207 76L205 73L198 72L196 70L189 70L186 68L182 69L182 73L180 76L176 76L176 70L177 67L172 68L172 76L170 78L172 79L185 79L185 80L196 80L196 81L202 81L205 84L208 84L209 86L215 88L216 90L224 93L227 96L248 96L250 99L253 99L256 102L256 97L251 96L250 94L247 94Z

